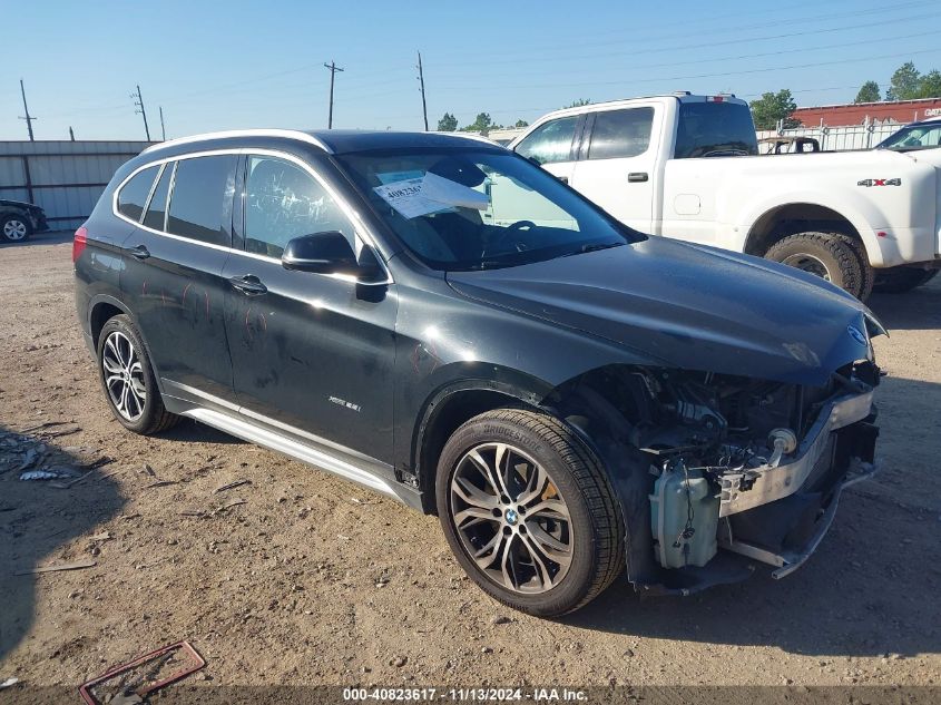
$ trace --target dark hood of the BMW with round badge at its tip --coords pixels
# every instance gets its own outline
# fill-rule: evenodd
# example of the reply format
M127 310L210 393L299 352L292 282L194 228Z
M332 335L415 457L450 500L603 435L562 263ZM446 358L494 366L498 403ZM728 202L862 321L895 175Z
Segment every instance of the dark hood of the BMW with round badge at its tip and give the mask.
M660 237L548 262L452 272L459 294L578 330L656 364L823 385L884 332L813 275ZM862 335L860 335L862 333Z

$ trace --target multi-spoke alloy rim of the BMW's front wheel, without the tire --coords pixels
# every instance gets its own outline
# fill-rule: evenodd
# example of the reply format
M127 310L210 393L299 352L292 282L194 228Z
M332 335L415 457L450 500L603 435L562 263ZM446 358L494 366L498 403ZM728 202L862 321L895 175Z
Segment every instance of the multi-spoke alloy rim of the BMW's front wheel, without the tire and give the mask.
M516 593L546 593L572 560L572 520L552 478L523 451L483 443L451 479L451 520L481 572Z

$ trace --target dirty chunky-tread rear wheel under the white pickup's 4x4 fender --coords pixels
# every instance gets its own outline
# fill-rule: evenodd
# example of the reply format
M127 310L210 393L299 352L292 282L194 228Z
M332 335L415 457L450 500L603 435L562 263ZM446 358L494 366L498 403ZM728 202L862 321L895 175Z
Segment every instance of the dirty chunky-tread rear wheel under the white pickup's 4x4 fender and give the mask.
M851 242L837 233L797 233L777 241L765 258L816 274L859 298L864 281L860 257Z

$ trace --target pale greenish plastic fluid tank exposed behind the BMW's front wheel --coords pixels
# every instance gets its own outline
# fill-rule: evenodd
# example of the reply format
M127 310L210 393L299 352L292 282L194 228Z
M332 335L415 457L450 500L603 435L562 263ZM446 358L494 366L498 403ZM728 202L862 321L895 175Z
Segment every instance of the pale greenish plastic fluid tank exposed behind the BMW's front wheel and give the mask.
M719 499L702 472L684 473L682 464L664 470L650 495L657 562L664 568L683 568L712 560L716 555L718 508Z

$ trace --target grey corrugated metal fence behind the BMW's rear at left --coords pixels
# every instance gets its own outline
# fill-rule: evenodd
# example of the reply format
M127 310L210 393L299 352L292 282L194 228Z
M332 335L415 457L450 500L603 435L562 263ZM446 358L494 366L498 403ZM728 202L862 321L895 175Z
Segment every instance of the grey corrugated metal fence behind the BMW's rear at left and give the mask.
M0 141L0 198L42 206L52 229L76 228L115 170L151 144Z

